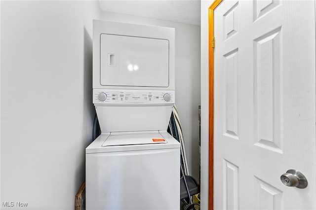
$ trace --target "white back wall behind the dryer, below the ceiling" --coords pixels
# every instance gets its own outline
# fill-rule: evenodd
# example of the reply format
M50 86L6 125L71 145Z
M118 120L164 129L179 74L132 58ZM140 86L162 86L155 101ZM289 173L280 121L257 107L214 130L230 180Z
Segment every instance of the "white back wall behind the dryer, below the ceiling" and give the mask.
M200 27L104 11L101 19L175 28L175 104L183 129L189 171L199 181Z

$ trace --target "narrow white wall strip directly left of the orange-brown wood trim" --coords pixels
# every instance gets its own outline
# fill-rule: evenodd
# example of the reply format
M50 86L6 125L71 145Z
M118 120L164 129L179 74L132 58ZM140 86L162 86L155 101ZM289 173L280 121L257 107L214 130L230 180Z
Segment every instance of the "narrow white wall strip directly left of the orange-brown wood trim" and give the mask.
M201 0L201 210L208 209L208 7Z

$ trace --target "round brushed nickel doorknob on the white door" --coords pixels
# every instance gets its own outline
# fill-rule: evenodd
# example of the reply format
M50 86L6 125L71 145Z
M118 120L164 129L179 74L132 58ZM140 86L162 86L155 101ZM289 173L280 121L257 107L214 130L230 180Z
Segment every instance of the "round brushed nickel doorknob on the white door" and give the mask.
M299 171L290 169L285 174L281 175L281 181L289 187L305 188L307 187L306 177Z

